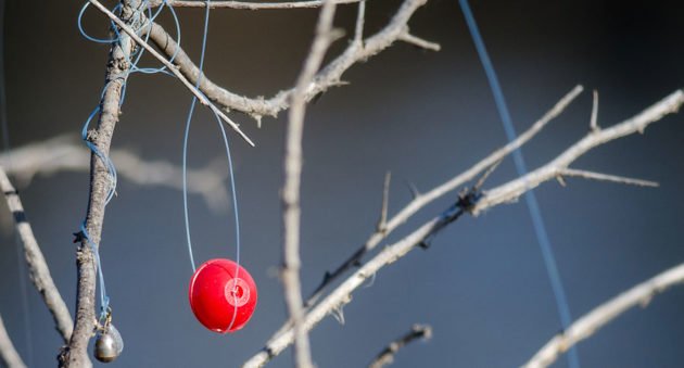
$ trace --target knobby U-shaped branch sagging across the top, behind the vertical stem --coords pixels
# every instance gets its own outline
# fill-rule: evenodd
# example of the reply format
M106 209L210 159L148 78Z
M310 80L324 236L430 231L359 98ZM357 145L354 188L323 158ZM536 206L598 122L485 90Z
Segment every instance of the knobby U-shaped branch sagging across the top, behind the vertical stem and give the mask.
M363 42L353 41L338 58L332 60L313 78L312 83L305 89L305 100L309 101L314 97L325 92L330 87L339 86L342 74L352 65L366 61L370 56L381 52L395 41L405 37L406 24L427 0L405 0L400 10L396 12L390 23L380 31L366 39ZM174 63L178 65L178 69L190 81L197 83L199 69L197 65L188 58L182 49L178 49L178 45L173 38L157 24L153 24L150 28L150 39L168 55L175 55ZM232 93L220 86L214 84L206 77L200 80L200 90L206 94L208 99L221 105L227 111L235 110L245 113L261 122L262 116L276 117L278 113L290 106L294 88L278 92L273 98L266 100L264 98L250 99Z

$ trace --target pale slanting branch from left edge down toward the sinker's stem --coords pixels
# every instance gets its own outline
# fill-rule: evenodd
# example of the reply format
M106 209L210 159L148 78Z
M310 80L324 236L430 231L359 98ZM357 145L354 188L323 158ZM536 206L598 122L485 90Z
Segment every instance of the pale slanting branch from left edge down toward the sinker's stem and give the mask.
M40 296L50 310L50 314L52 314L52 319L54 319L54 326L58 332L60 332L64 342L67 343L72 337L74 328L72 315L68 313L68 308L66 307L60 291L54 284L54 281L52 281L48 263L40 251L38 241L36 241L34 230L26 219L26 213L24 213L22 200L2 167L0 167L0 189L2 189L8 207L14 216L16 232L22 240L22 245L24 245L24 257L26 258L26 264L28 265L28 276L30 281L40 293Z

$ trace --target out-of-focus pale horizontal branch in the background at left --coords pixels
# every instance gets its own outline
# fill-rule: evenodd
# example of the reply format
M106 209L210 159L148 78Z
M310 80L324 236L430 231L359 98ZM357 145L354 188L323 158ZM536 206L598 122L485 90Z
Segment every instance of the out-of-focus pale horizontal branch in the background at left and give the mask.
M29 182L38 173L51 175L65 170L88 170L88 148L75 136L63 135L0 154L0 166L4 166L21 186L22 182ZM121 149L112 150L110 157L116 164L118 175L136 185L182 189L182 172L177 165L142 160ZM225 185L228 173L219 169L218 160L225 158L212 161L204 168L188 169L188 192L202 195L206 205L217 212L224 211L229 204Z

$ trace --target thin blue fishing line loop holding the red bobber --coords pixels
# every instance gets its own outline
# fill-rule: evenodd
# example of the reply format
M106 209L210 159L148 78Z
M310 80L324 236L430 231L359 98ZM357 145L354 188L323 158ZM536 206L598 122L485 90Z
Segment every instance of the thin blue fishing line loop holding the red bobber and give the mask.
M200 69L200 74L198 76L198 80L195 83L195 88L199 89L200 87L200 80L203 76L203 66L204 66L204 56L206 54L206 39L207 39L207 35L208 35L208 16L210 16L210 10L211 10L211 0L206 0L206 7L205 11L204 11L204 29L203 29L203 34L202 34L202 51L200 53L200 65L199 65L199 69ZM183 141L182 141L182 200L183 200L183 215L185 215L185 221L186 221L186 237L187 237L187 242L188 242L188 254L190 255L190 264L192 265L192 271L197 271L197 267L194 264L194 255L193 255L193 251L192 251L192 241L191 241L191 237L190 237L190 219L189 219L189 215L188 215L188 138L190 135L190 125L192 123L192 114L194 112L194 106L197 104L197 97L192 97L192 102L190 104L190 110L188 112L188 117L186 119L186 130L185 130L185 135L183 135ZM228 136L226 135L226 129L220 120L220 117L218 116L218 114L216 114L216 112L214 112L214 116L216 117L216 123L218 124L218 128L220 129L220 134L224 140L224 144L226 148L226 155L228 157L228 173L230 175L230 189L231 189L231 196L232 196L232 207L233 207L233 215L235 215L235 225L236 225L236 272L233 278L238 279L239 272L240 272L240 216L239 216L239 211L238 211L238 194L237 194L237 189L236 189L236 180L235 180L235 170L233 170L233 166L232 166L232 156L230 154L230 144L228 142ZM237 282L236 282L237 285ZM237 299L237 295L236 295ZM236 317L238 316L238 303L233 303L233 313L232 313L232 318L230 319L230 323L228 325L227 330L229 331L235 321L236 321Z

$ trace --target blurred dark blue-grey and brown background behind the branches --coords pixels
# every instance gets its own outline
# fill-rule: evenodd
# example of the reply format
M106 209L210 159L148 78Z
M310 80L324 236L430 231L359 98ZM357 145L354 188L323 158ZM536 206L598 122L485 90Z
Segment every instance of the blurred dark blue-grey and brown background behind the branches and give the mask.
M369 1L366 35L380 29L400 4ZM79 35L81 5L4 1L4 107L12 148L78 135L99 102L109 47ZM682 2L473 0L471 7L519 131L574 85L586 89L524 147L530 168L587 131L592 89L599 92L599 124L609 126L684 85ZM198 60L203 12L177 11L182 46ZM335 24L349 30L355 12L355 5L340 5ZM250 97L270 97L291 87L316 17L316 10L213 11L207 76ZM167 13L162 16L162 23L169 21ZM94 10L87 12L84 24L93 36L106 37L107 22ZM392 215L410 200L407 183L427 191L506 142L457 2L430 0L409 26L413 34L439 42L442 51L397 43L351 68L343 78L351 85L330 90L308 109L302 187L306 293L373 231L385 172L393 176ZM345 45L338 41L329 55ZM179 165L190 100L172 78L131 76L113 148ZM192 269L181 193L122 179L118 196L107 207L101 244L114 321L126 344L112 367L235 367L281 326L286 307L276 275L286 115L265 118L261 129L231 115L257 144L250 148L230 135L242 263L259 288L252 320L235 334L205 330L190 312ZM190 166L225 160L213 117L205 109L194 116ZM536 190L573 318L684 261L683 143L684 115L672 115L645 135L604 145L573 165L656 180L661 185L657 189L569 179L566 188L548 182ZM224 164L216 170L225 175L226 162L218 162ZM515 177L507 160L486 187ZM88 173L38 175L18 185L52 276L73 310L72 232L85 215ZM389 241L441 213L455 195L427 206ZM198 262L235 256L229 204L215 211L202 196L191 195L190 215ZM0 314L28 365L54 366L61 339L18 267L22 256L10 214L3 210L0 217ZM312 331L319 367L364 366L415 322L431 325L433 339L401 351L395 367L518 366L559 331L524 202L464 218L432 245L383 268L372 285L358 290L344 308L344 326L329 317ZM579 344L580 360L584 367L681 367L683 305L684 288L675 288L647 308L628 312ZM555 366L566 364L560 358ZM270 364L291 365L289 350Z

